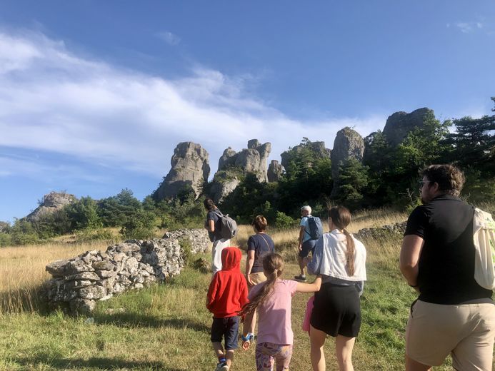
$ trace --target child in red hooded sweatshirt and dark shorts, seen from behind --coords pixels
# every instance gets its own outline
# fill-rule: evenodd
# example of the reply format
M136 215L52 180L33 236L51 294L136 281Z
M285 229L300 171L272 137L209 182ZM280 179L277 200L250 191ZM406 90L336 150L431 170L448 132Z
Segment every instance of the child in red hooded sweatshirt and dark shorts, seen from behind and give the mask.
M206 308L213 313L211 343L219 362L215 371L229 370L237 349L239 331L238 312L248 303L246 278L241 273L241 250L224 248L221 252L222 268L211 280L206 298ZM225 338L225 350L221 345Z

